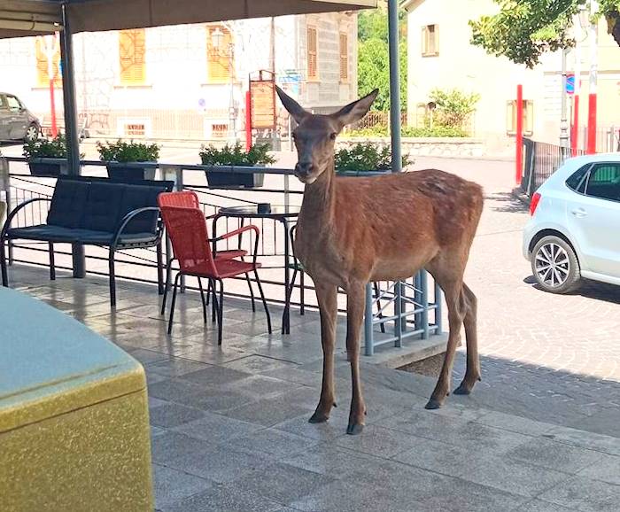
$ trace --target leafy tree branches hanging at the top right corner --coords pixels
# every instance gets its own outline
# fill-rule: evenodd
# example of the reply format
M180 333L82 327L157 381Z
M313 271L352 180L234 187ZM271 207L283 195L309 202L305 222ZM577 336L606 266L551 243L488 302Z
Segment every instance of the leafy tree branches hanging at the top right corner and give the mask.
M495 0L500 12L469 21L471 42L493 55L517 64L536 66L546 51L570 48L574 39L566 28L588 0ZM599 16L620 45L620 0L600 0Z

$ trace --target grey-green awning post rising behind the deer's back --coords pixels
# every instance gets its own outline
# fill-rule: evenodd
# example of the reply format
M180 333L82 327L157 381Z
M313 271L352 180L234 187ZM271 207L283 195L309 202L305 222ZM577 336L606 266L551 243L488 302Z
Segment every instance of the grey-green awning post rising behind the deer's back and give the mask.
M391 172L402 171L400 156L399 0L388 0L390 46L390 135Z

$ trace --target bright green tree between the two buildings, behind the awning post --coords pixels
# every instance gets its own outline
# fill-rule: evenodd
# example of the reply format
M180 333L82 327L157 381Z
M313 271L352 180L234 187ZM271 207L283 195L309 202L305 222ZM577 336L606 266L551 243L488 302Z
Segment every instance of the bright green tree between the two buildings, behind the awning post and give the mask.
M407 107L407 42L405 12L399 12L399 74L400 107ZM390 109L390 52L388 46L388 19L385 2L380 2L376 10L361 12L358 17L358 89L364 96L373 89L379 94L373 110Z

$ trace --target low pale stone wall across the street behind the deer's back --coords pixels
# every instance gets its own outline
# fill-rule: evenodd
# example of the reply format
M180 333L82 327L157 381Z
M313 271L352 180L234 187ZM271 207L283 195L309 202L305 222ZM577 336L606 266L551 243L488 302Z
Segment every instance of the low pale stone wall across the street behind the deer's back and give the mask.
M390 144L388 137L342 137L337 149L350 148L354 144ZM484 141L471 137L403 137L402 152L412 157L482 157L486 153Z

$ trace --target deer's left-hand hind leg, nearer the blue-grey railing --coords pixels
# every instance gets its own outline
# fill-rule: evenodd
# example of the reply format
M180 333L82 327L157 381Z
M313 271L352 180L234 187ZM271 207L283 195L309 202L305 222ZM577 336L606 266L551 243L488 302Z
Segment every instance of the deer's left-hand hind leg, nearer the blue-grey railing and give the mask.
M441 288L446 295L446 304L448 306L448 324L450 332L448 334L448 343L446 355L444 356L444 364L441 367L439 379L435 385L435 389L430 395L430 400L426 404L427 409L438 409L446 400L446 396L450 392L450 374L452 373L452 364L454 361L454 352L456 345L461 337L461 326L465 316L465 302L462 294L461 280L451 281L449 283L439 282Z

